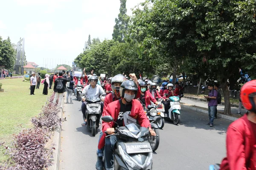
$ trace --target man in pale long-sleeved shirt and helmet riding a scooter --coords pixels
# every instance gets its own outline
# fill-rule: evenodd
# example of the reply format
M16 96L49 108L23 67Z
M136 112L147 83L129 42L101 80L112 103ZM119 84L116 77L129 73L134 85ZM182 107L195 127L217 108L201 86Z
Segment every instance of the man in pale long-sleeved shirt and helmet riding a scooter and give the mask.
M82 97L82 105L81 105L81 110L83 113L83 117L84 117L84 122L83 122L83 126L87 125L87 120L86 120L86 104L87 102L85 102L85 98L96 98L99 97L100 95L102 96L102 101L104 101L106 93L103 90L103 88L101 87L101 85L97 85L98 81L98 77L97 76L92 76L89 79L90 85L87 85L84 87L84 90L82 91L82 94L84 94L84 97ZM104 104L101 102L101 107L103 110L103 106Z

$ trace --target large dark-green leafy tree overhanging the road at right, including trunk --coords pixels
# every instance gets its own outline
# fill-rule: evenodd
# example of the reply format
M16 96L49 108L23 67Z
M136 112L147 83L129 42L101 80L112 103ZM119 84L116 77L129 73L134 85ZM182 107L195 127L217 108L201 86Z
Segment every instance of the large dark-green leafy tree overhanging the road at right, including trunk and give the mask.
M145 5L145 3L144 3ZM230 114L227 80L256 66L255 0L157 0L144 10L143 45L154 45L169 59L191 58L200 77L218 79L224 92L224 114ZM134 23L134 22L133 22Z

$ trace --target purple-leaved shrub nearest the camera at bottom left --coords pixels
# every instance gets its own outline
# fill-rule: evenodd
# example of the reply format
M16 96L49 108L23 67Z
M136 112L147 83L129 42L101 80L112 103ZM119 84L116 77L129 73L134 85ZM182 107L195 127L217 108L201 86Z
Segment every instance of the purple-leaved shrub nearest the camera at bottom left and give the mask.
M16 165L7 170L17 169L17 167L21 170L40 170L49 167L51 163L49 157L52 149L55 148L52 147L49 151L45 148L48 139L48 131L42 128L27 129L17 134L14 147L9 148L7 153Z

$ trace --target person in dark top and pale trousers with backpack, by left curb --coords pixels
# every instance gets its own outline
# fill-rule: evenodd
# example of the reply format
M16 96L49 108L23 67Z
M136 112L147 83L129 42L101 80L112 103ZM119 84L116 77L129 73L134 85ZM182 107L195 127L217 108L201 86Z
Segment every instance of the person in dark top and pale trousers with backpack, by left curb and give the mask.
M54 88L53 88L53 90L55 92L53 103L56 104L57 99L59 97L58 105L61 108L63 108L63 105L62 105L63 94L64 94L65 91L67 91L66 83L70 82L70 75L67 76L67 79L62 77L62 75L63 75L63 72L60 71L59 76L55 79ZM62 83L62 85L60 83Z

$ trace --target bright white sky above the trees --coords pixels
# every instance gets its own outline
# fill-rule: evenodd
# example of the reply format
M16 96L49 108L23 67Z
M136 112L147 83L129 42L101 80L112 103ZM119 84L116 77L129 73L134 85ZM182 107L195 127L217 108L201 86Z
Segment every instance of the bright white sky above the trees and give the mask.
M145 0L127 0L127 14ZM26 60L39 67L72 65L84 42L111 40L119 0L0 0L0 36L25 40Z

